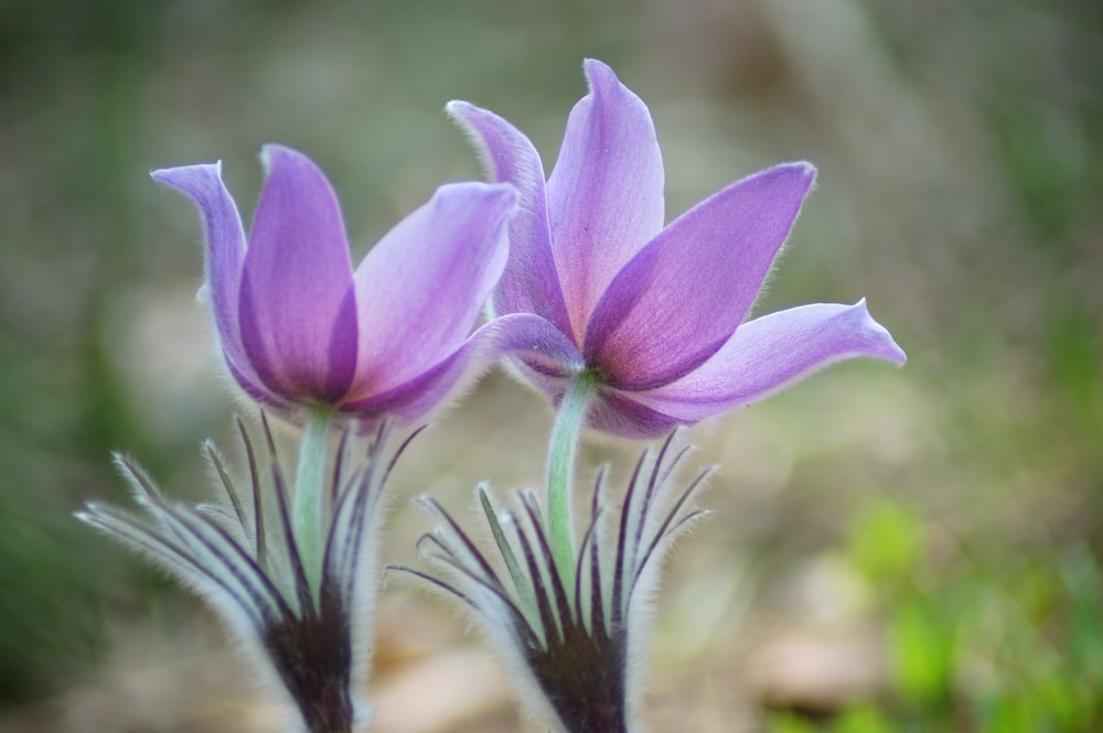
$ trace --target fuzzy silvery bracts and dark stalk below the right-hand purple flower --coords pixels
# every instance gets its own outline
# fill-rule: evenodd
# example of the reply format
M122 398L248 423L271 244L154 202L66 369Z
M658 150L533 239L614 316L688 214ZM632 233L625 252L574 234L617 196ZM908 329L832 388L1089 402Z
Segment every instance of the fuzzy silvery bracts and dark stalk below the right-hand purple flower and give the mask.
M440 504L422 498L438 525L418 547L441 575L393 568L472 612L523 702L555 721L555 730L641 730L636 713L663 556L704 514L694 496L711 471L679 486L675 470L688 449L674 442L672 434L657 451L644 451L623 495L599 473L569 570L554 557L534 493L521 493L515 509L500 513L483 487L479 500L496 552L484 553Z

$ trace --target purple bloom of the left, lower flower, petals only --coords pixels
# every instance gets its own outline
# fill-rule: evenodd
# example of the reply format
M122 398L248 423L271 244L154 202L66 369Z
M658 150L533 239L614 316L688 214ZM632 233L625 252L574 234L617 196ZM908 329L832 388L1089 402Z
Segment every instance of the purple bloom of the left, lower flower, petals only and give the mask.
M416 420L476 363L527 339L526 326L542 327L527 316L468 338L505 267L510 186L441 186L354 271L321 170L281 145L265 147L261 160L267 179L248 239L221 163L152 173L200 208L222 352L253 398L283 411L321 405Z

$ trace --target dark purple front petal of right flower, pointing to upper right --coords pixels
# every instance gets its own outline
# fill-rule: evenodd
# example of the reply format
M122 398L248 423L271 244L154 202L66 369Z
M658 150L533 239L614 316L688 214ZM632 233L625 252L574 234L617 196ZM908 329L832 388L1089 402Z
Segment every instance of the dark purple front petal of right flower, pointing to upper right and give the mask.
M635 391L716 353L747 316L814 179L808 163L778 165L666 227L610 283L586 333L587 363Z

